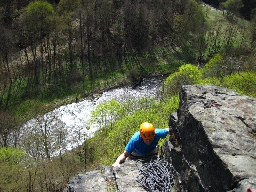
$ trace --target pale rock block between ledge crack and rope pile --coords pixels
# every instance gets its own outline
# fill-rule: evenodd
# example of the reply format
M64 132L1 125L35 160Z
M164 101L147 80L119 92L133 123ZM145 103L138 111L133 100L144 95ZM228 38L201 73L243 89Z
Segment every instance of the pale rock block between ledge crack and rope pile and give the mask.
M142 164L138 162L138 165ZM145 189L136 181L137 175L140 174L136 161L125 161L120 167L113 168L118 191L120 192L145 192Z

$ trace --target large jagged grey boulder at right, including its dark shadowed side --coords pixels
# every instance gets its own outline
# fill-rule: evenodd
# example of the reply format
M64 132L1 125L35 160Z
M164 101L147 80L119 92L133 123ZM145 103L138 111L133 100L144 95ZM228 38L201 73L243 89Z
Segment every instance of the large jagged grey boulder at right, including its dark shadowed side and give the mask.
M177 191L256 188L256 99L212 85L184 85L163 157Z

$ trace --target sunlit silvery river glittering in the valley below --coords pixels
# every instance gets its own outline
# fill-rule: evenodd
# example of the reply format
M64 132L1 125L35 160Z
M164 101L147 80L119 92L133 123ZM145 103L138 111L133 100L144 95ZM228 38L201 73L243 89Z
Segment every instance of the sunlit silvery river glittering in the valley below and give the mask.
M86 137L92 137L94 133L98 130L97 124L89 125L88 120L90 118L92 110L96 108L97 105L103 102L107 102L111 99L122 100L124 97L146 97L146 96L154 96L156 98L160 98L159 92L162 87L162 82L166 76L157 76L144 79L141 84L133 89L132 86L127 86L123 88L116 88L106 92L103 92L100 95L93 94L91 98L72 103L68 105L63 105L47 114L44 114L44 118L49 115L58 117L58 123L64 126L66 130L67 140L69 143L67 144L66 149L71 149L75 147L75 144L72 144L72 140L77 137L77 131L81 131ZM42 118L42 120L44 119ZM42 122L43 124L43 122ZM23 125L23 133L22 135L26 135L29 130L33 132L35 127L38 126L38 122L36 123L35 119L31 119L27 121ZM52 125L47 125L54 127L54 123ZM90 129L86 129L90 127ZM49 127L51 129L51 127ZM58 130L57 130L58 131Z

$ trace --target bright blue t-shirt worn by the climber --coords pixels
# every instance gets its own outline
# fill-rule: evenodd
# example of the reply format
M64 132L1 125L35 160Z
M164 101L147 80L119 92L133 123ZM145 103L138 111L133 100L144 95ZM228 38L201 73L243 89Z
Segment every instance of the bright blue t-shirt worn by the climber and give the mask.
M143 138L140 136L140 131L134 133L130 141L125 147L125 150L129 153L136 151L136 153L140 155L147 155L152 152L159 141L160 138L165 138L168 134L166 129L155 129L156 135L154 137L153 142L150 145L147 145L143 142Z

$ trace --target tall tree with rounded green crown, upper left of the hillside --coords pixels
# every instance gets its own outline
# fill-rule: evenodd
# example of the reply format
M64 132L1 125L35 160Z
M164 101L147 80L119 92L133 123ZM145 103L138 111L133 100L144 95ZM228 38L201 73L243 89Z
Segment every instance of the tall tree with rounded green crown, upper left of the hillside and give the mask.
M47 1L31 2L26 8L22 17L24 26L24 34L27 37L27 42L31 46L34 62L34 84L35 94L38 92L40 81L40 67L42 68L42 83L46 84L44 76L46 76L45 66L43 62L43 52L45 45L45 36L48 36L52 29L52 16L54 9ZM38 60L37 46L40 45L40 58ZM26 53L27 54L27 53ZM48 54L49 55L49 54ZM50 63L49 63L50 64Z

